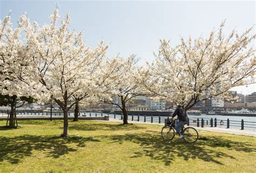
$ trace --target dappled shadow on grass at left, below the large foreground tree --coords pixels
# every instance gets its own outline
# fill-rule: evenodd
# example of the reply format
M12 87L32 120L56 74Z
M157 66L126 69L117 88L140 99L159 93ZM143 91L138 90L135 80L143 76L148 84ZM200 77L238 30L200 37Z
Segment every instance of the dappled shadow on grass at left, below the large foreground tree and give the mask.
M58 158L62 155L85 147L85 142L99 142L93 137L71 136L62 139L59 136L22 135L16 137L0 136L0 162L19 163L24 157L31 156L33 150L41 151L48 157ZM76 144L76 147L69 147Z

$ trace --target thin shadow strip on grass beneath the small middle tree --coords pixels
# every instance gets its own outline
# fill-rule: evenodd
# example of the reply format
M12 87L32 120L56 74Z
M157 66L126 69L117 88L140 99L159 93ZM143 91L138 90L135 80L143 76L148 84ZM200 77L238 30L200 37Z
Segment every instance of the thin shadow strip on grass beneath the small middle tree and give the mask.
M77 124L70 123L69 129L74 130L139 130L145 127L137 126L136 124L110 124L110 123L90 123L90 124Z

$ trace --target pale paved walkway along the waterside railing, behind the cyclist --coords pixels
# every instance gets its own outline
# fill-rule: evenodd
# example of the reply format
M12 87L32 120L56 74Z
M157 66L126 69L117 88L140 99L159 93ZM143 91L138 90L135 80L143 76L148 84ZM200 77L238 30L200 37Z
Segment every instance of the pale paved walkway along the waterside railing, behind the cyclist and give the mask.
M109 121L112 122L123 122L123 120L119 119L112 119L110 118ZM150 123L150 122L138 122L138 121L128 121L129 123L139 123L139 124L155 124L155 125L162 125L159 123ZM245 136L256 136L256 130L239 130L239 129L227 129L227 128L221 128L221 127L195 127L192 126L198 130L206 130L206 131L213 131L213 132L221 132L221 133L229 133L229 134L236 134L236 135L245 135Z

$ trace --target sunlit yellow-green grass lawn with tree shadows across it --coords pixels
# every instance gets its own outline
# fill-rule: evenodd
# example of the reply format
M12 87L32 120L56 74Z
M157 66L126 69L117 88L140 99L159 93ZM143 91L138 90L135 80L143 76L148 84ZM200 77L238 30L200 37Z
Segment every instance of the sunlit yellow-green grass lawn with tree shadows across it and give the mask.
M161 126L114 122L0 121L0 172L256 172L256 138L199 131L167 142Z

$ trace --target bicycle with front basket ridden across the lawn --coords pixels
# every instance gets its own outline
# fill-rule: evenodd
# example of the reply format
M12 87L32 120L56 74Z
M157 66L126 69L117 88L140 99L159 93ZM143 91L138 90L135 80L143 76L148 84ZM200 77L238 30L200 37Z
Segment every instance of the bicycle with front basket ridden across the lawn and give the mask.
M177 119L167 119L167 122L165 126L161 130L161 136L163 137L164 140L170 141L173 139L175 136L175 120ZM185 123L187 124L187 123ZM195 128L193 127L186 127L184 128L184 125L181 127L181 134L183 134L183 139L187 143L194 143L198 140L198 132Z

